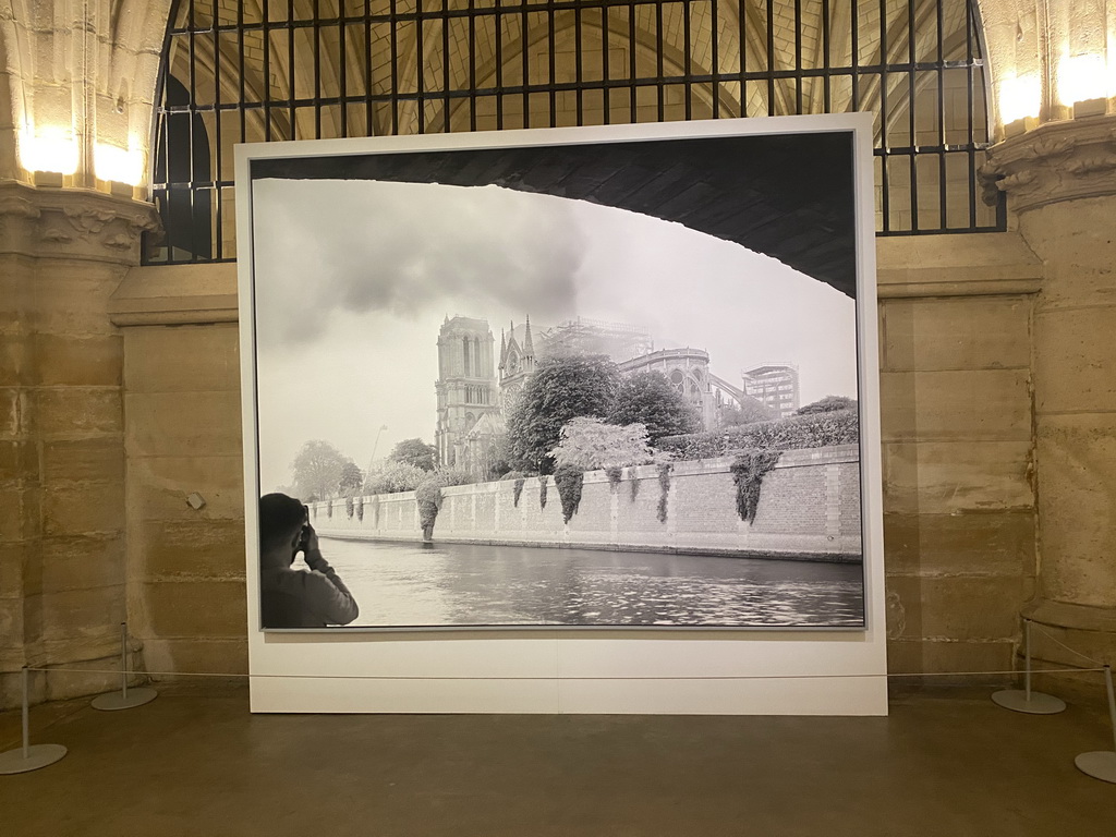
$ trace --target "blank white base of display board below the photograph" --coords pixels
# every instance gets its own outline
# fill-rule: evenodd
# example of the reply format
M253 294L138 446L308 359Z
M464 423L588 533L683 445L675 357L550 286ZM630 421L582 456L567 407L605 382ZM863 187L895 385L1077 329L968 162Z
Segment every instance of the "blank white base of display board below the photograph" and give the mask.
M627 633L627 632L625 632ZM257 633L253 712L884 715L865 634L658 639ZM298 672L297 676L288 676Z

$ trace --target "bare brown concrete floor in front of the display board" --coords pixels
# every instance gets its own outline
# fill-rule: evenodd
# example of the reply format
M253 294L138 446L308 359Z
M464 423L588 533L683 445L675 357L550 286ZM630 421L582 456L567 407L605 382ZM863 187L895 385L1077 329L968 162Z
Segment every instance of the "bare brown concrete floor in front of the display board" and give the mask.
M251 715L247 691L160 686L125 712L32 709L69 754L0 776L3 837L1110 837L1112 747L1070 706L988 690L898 698L886 719ZM19 715L0 715L0 750Z

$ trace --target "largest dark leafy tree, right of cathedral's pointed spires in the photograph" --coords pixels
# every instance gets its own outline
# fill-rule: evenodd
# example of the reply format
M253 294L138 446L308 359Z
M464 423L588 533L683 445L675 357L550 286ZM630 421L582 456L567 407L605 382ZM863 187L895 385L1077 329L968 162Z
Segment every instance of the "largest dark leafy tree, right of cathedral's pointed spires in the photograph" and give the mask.
M511 465L550 473L549 453L571 419L607 416L616 402L620 374L606 355L543 359L527 379L508 416Z

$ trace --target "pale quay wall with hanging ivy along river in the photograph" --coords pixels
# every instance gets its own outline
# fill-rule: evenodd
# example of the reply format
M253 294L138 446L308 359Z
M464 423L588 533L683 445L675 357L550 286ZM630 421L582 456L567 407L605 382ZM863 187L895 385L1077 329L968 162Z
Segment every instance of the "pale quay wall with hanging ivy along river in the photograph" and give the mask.
M554 478L546 478L545 503L537 477L523 480L518 502L514 480L446 488L433 540L859 560L856 445L786 451L763 478L752 523L737 512L731 464L676 462L663 481L656 465L627 468L615 485L604 471L588 471L569 523ZM422 540L413 491L311 503L310 514L325 537Z

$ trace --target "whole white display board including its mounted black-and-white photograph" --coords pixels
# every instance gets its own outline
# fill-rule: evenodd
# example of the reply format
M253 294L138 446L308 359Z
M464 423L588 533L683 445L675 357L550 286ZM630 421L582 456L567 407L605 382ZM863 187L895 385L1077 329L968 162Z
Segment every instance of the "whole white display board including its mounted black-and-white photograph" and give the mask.
M253 709L885 712L870 131L241 147Z

